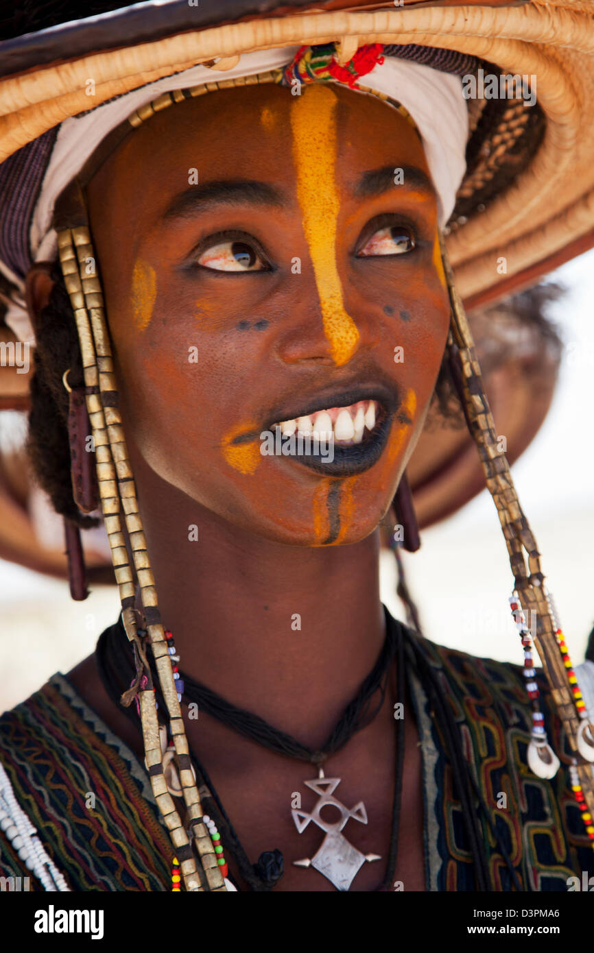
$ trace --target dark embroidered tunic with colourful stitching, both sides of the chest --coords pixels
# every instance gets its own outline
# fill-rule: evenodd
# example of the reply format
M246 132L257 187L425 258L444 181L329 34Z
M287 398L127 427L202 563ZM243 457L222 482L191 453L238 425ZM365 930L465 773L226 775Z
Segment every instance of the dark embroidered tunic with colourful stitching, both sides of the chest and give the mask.
M461 726L466 759L525 891L567 890L570 877L594 874L594 850L569 787L566 758L552 781L526 764L531 711L522 668L478 659L420 639ZM409 659L410 660L410 659ZM440 727L407 665L422 753L425 886L474 891L472 855L454 794ZM549 740L560 753L560 722L542 670L537 680ZM123 741L54 675L0 718L0 761L16 800L72 890L164 891L173 848L159 821L143 765ZM233 818L231 819L233 821ZM486 821L481 831L490 879L512 890ZM0 873L26 877L0 833ZM43 889L31 877L31 889Z

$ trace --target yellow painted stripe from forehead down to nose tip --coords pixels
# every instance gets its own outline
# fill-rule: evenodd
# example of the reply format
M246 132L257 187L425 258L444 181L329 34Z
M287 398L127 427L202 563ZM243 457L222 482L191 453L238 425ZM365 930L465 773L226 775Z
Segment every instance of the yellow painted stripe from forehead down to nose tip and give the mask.
M303 214L324 334L336 364L345 364L357 346L355 321L344 310L336 259L339 209L335 180L337 97L328 86L313 85L291 104L297 200Z

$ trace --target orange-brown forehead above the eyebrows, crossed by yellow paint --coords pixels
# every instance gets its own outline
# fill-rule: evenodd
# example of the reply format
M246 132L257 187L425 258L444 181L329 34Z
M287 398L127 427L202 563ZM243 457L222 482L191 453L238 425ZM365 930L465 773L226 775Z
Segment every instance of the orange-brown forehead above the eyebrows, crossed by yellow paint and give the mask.
M257 178L295 191L296 135L306 113L312 136L335 153L338 182L347 188L364 169L427 167L420 138L392 107L337 84L305 87L300 96L277 84L208 92L158 112L131 132L95 176L97 191L124 206L158 206L199 181Z

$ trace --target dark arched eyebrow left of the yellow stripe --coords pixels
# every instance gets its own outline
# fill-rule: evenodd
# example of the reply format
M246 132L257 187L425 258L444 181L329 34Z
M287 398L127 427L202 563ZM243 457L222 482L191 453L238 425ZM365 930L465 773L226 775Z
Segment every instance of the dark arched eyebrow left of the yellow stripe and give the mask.
M286 198L280 189L256 179L224 179L195 185L174 195L162 217L165 220L189 218L215 205L267 205L281 208Z

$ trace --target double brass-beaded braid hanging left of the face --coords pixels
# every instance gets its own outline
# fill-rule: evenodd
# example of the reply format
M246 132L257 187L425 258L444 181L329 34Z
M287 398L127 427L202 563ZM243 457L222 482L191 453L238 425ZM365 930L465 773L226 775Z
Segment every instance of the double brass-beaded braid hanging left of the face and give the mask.
M193 831L195 849L201 862L207 888L226 891L219 870L213 841L202 820L202 808L190 762L181 708L177 699L172 660L158 609L154 576L138 512L132 467L128 458L118 395L113 375L113 357L105 320L101 284L96 274L87 273L87 262L96 260L91 234L86 226L65 229L58 233L58 251L66 289L70 295L78 330L85 378L87 410L92 426L95 462L101 508L110 541L113 569L122 604L126 634L140 656L144 654L133 609L133 569L130 565L121 513L133 552L135 576L146 619L148 642L151 645L161 691L167 705L170 730L174 739L187 815ZM154 800L167 826L179 858L179 869L189 891L203 890L197 876L195 855L167 788L163 774L163 755L159 724L150 670L145 670L147 684L138 691L140 718Z

